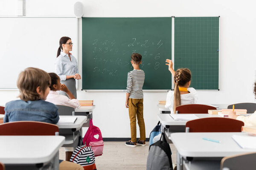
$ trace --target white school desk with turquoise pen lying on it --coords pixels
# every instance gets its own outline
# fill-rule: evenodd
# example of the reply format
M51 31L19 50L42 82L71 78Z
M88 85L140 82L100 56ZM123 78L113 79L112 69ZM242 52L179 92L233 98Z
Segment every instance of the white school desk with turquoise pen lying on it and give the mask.
M177 149L177 170L182 170L183 165L201 164L201 168L205 161L209 161L206 165L209 167L216 167L220 165L220 161L225 156L232 156L241 153L256 152L256 149L242 149L233 139L233 135L248 136L247 133L172 133L168 138L172 140ZM203 140L202 138L209 138L218 140L221 143ZM212 160L212 161L211 161ZM193 162L195 164L193 164ZM186 163L186 164L184 164ZM212 164L210 166L210 164ZM198 166L196 166L198 167ZM193 169L193 168L190 168ZM212 168L214 169L214 168ZM218 167L218 170L220 167ZM199 169L198 169L199 170Z

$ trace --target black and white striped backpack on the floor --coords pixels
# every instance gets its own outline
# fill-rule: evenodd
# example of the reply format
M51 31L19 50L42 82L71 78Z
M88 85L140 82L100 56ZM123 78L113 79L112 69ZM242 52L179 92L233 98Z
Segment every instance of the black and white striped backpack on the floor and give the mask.
M80 164L84 170L96 170L93 150L85 145L76 147L76 150L74 150L70 161L76 164Z

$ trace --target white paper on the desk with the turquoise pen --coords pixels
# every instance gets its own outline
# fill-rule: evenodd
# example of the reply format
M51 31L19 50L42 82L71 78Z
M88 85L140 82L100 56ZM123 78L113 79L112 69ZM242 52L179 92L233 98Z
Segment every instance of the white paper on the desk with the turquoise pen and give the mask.
M233 135L232 138L243 149L256 149L256 136Z

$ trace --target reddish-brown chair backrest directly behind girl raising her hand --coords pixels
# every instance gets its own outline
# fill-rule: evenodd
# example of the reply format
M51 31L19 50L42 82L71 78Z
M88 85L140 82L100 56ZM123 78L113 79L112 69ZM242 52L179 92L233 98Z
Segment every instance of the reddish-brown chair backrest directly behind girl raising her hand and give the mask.
M179 114L181 113L208 113L208 110L216 110L215 107L208 106L208 105L198 105L198 104L191 104L191 105L180 105L176 107L176 112L178 111Z

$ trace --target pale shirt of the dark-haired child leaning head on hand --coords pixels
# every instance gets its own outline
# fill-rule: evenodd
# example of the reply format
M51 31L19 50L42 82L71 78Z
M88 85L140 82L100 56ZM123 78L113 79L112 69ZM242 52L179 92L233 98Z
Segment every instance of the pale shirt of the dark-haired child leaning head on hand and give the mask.
M80 107L78 99L70 99L67 96L59 95L56 91L49 91L49 94L45 101L51 102L54 105L64 105L70 106L72 108Z

